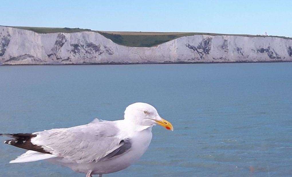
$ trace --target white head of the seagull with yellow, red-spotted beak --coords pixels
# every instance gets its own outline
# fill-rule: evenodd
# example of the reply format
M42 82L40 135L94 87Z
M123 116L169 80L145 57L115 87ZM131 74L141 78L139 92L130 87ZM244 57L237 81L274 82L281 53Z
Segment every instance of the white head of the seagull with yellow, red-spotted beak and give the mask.
M160 117L155 107L147 103L133 103L129 105L125 110L124 118L137 126L153 126L158 124L173 131L171 123Z

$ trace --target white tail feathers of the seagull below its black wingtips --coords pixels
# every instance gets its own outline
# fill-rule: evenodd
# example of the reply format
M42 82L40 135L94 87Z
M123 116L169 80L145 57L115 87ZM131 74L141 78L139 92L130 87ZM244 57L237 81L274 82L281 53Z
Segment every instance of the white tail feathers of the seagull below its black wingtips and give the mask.
M18 156L15 160L10 161L9 163L34 162L38 160L50 159L53 157L58 157L58 156L29 150L25 152L24 154Z

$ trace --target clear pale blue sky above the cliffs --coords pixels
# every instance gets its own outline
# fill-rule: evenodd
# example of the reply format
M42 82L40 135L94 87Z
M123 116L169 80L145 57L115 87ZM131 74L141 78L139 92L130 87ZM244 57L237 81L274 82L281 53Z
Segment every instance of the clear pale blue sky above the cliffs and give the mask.
M292 37L292 1L1 0L0 25Z

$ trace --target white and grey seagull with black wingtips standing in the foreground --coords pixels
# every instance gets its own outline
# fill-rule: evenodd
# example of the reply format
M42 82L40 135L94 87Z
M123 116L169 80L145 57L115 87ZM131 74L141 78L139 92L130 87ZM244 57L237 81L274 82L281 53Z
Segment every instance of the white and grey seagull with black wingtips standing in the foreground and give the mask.
M161 118L152 105L133 103L126 107L123 120L95 119L70 128L0 136L13 138L4 143L28 150L10 163L47 159L86 177L101 177L137 161L147 150L152 126L157 124L173 131L171 123Z

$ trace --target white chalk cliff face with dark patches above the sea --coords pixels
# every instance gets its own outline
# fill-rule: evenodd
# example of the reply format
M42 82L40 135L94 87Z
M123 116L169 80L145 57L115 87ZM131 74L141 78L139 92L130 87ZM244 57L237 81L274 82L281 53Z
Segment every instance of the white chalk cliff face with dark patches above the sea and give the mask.
M265 61L292 61L292 40L194 35L154 47L128 47L97 32L39 34L0 26L0 64Z

